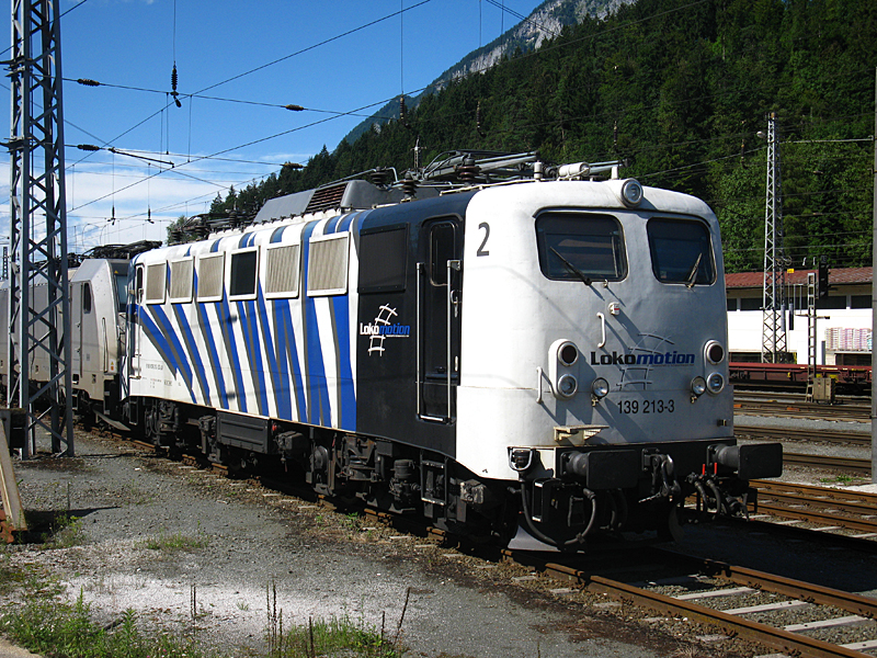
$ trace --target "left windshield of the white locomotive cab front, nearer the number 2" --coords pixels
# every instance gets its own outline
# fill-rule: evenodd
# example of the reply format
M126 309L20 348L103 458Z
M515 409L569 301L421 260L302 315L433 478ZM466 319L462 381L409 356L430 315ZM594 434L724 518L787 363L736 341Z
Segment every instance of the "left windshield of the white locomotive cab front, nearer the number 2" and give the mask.
M548 279L620 281L627 275L622 227L611 215L544 213L536 219L536 241Z

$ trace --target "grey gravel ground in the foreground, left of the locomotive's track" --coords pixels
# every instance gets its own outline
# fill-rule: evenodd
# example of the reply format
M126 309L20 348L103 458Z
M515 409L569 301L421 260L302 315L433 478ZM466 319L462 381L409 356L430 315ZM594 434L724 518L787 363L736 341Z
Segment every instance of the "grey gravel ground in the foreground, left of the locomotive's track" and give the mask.
M124 444L78 436L76 450L72 460L16 463L16 478L30 513L81 518L81 544L0 551L59 575L69 595L81 593L101 621L134 609L149 625L194 629L238 655L262 644L269 589L273 597L276 588L285 624L349 615L384 623L394 635L408 593L401 639L410 656L651 657L684 646L681 631L629 623L578 594L551 594L556 583L529 582L520 567L369 529L368 520ZM200 547L147 546L174 535Z

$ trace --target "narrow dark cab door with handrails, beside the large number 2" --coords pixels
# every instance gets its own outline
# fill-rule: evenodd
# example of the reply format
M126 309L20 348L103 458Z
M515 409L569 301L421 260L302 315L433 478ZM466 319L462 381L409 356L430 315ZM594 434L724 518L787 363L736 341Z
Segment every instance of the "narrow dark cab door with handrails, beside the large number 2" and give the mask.
M418 263L418 415L451 422L459 384L463 230L456 218L424 224Z

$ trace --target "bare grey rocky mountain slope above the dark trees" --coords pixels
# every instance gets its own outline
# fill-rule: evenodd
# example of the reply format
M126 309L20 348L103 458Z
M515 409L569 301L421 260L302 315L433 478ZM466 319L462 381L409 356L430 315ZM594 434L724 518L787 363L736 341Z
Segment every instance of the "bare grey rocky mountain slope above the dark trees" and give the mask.
M411 110L420 104L425 94L442 90L451 80L481 73L490 69L504 55L529 53L538 49L547 38L556 37L567 25L576 25L585 16L603 19L624 4L636 0L545 0L514 27L506 30L489 44L472 50L457 64L433 80L426 89L415 97L406 97L406 107ZM496 2L492 2L496 4ZM506 10L508 11L508 10ZM388 121L399 117L399 99L394 99L375 114L362 121L345 137L353 144L366 131L380 131Z

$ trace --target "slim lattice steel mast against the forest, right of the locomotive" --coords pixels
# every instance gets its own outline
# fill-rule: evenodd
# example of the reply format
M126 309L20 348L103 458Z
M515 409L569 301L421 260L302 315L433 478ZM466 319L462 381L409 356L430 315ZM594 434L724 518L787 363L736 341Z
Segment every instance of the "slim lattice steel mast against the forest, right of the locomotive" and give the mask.
M762 362L782 362L786 355L786 258L783 249L783 195L776 114L767 118L767 192L764 214L764 290Z

